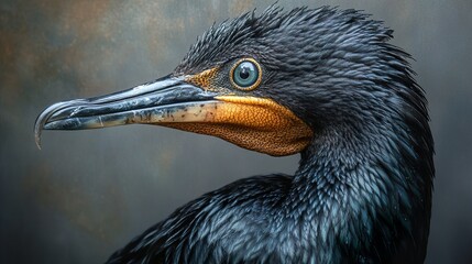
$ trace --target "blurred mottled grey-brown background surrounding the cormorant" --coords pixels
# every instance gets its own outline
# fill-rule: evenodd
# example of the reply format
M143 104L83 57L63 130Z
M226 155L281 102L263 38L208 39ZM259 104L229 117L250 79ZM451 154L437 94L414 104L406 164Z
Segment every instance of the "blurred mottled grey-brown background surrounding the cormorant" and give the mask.
M293 173L218 139L157 127L48 132L48 105L166 75L215 21L274 0L0 2L0 262L100 263L178 206L238 178ZM355 8L395 30L427 91L436 188L427 263L472 260L472 1L289 1Z

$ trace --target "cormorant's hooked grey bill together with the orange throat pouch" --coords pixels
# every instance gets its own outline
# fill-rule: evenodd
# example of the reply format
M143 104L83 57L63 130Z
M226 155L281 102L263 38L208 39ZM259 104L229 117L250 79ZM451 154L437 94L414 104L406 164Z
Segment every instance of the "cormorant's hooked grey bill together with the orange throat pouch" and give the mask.
M272 99L205 89L185 76L166 76L134 88L90 99L57 102L36 119L43 130L86 130L122 124L158 124L215 135L273 156L305 148L311 129Z

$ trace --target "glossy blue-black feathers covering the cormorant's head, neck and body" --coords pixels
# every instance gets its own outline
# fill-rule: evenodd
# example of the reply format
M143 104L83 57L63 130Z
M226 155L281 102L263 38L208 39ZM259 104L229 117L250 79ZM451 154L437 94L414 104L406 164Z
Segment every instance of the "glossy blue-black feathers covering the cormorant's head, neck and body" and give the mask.
M294 176L204 195L109 263L422 263L432 139L409 55L391 37L381 22L331 8L271 8L212 26L176 73L256 57L268 74L254 94L293 110L315 136Z

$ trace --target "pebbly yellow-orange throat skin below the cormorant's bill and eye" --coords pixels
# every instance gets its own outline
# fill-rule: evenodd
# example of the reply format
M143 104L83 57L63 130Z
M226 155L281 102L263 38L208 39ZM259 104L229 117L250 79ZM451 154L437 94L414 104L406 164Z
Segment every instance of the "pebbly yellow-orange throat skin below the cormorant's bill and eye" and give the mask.
M271 99L240 96L216 97L217 103L202 103L200 119L163 122L164 127L215 135L241 147L273 156L304 150L311 129L290 110ZM189 109L186 110L187 112Z

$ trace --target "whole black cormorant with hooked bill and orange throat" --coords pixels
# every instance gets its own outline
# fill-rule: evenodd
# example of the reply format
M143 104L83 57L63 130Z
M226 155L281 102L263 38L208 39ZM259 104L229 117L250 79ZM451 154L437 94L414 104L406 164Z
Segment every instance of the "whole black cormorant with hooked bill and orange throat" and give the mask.
M274 156L294 176L237 180L177 209L108 263L422 263L432 138L392 30L355 10L271 7L211 26L164 78L58 102L35 123L145 123Z

